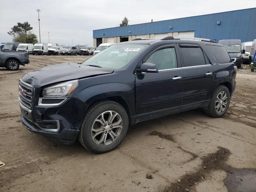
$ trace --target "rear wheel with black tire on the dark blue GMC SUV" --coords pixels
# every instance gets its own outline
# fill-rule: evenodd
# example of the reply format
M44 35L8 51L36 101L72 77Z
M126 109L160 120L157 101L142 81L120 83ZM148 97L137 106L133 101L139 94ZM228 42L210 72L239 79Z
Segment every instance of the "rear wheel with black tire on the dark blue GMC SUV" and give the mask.
M225 93L225 94L223 94L223 93ZM221 95L223 97L221 97ZM223 102L223 104L220 107L224 107L224 103L226 103L226 107L224 109L217 108L218 104L221 104L220 102L217 102L217 97L220 98L219 100ZM224 99L224 98L226 98L226 99ZM208 105L208 108L206 110L204 110L204 112L208 116L211 116L214 118L222 117L228 110L229 103L230 103L230 92L229 92L228 88L224 85L218 86L212 95L212 99L210 101L210 104Z

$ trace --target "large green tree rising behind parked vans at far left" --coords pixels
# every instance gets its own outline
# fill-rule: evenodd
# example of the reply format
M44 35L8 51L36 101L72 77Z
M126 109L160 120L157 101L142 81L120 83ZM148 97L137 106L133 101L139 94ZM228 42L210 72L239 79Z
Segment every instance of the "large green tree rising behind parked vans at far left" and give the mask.
M30 26L28 22L17 23L14 25L9 32L9 35L13 36L14 42L22 43L33 43L38 42L37 36L32 33L33 27Z

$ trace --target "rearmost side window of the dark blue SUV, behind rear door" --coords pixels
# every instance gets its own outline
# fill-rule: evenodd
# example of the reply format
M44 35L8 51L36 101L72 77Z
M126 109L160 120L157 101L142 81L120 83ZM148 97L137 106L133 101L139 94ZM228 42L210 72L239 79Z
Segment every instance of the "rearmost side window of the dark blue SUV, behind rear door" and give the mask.
M230 56L228 55L228 52L224 47L216 46L216 45L207 45L207 46L218 63L231 62Z

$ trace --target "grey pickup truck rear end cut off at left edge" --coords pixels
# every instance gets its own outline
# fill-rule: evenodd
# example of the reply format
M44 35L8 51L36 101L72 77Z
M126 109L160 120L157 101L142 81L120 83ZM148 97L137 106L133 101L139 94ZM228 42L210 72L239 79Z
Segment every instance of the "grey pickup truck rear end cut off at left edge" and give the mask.
M0 67L8 70L18 70L20 65L29 63L28 53L26 51L2 51L0 50Z

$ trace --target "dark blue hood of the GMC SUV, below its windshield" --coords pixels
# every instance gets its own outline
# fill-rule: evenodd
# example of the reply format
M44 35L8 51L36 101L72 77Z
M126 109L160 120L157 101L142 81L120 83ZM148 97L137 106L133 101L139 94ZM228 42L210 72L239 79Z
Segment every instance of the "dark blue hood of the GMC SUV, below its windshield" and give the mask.
M29 72L22 77L22 80L31 84L34 88L41 88L48 84L110 74L112 72L114 72L112 69L86 66L77 63L62 63Z

